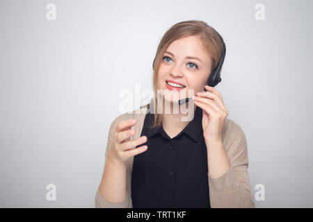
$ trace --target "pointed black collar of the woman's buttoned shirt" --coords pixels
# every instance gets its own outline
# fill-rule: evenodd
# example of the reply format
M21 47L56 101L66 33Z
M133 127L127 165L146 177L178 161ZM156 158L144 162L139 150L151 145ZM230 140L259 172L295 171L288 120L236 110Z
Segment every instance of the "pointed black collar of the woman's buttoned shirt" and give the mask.
M147 112L147 123L148 123L147 126L152 126L153 122L154 122L154 114ZM163 130L162 126L159 128L147 127L147 138L150 138L156 135L157 133L161 133L163 137L170 139L170 137L168 137L166 132ZM191 137L191 139L193 139L195 142L198 142L200 134L202 133L202 109L199 108L198 106L195 108L195 115L193 119L182 130L182 132L180 132L178 135L176 135L172 139L179 137L183 133Z

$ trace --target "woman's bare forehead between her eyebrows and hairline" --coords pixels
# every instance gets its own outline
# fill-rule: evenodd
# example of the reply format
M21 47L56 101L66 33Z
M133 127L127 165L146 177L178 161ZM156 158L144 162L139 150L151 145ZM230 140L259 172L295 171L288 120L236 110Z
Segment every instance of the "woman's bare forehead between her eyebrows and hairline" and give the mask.
M184 59L186 56L196 56L204 62L209 62L209 54L202 45L199 37L188 36L172 42L166 51L170 51L175 58Z

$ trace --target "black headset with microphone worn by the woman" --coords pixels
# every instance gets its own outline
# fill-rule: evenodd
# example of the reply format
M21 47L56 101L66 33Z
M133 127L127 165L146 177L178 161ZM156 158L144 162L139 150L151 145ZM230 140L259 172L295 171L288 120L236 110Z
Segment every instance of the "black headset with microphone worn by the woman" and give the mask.
M207 85L209 85L211 87L215 87L222 80L222 78L220 78L220 71L222 69L223 62L225 59L225 54L226 54L226 46L225 46L225 42L224 42L223 38L222 38L222 42L223 42L222 55L220 55L220 60L218 61L218 65L216 66L216 68L213 71L211 71L209 79L207 80ZM155 60L155 58L154 58L154 60ZM152 69L154 69L154 60L152 63ZM207 89L204 88L204 91L207 91ZM178 101L179 105L182 105L182 104L190 101L191 99L192 98L181 99Z

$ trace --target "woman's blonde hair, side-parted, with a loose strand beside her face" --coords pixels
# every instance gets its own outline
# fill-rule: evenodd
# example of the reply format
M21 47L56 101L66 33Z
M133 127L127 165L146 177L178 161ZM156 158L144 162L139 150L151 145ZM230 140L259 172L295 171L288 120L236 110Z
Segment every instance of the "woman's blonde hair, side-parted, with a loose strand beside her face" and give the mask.
M220 60L220 56L223 51L223 38L215 31L214 28L209 26L206 22L198 20L188 20L179 22L172 26L163 35L156 56L154 58L153 66L153 89L154 89L154 124L152 128L161 126L162 114L157 112L157 73L159 72L159 66L162 62L163 54L172 42L179 40L182 37L197 36L200 38L200 42L204 49L211 57L211 71L215 69ZM148 105L149 106L149 105Z

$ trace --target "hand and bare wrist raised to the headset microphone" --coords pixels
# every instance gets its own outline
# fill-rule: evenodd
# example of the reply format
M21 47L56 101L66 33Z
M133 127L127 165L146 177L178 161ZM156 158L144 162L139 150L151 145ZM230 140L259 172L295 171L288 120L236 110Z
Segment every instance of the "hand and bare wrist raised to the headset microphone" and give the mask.
M202 128L205 142L221 142L222 130L228 110L223 97L214 87L205 86L207 92L198 92L193 96L195 105L202 108Z

